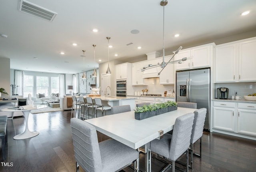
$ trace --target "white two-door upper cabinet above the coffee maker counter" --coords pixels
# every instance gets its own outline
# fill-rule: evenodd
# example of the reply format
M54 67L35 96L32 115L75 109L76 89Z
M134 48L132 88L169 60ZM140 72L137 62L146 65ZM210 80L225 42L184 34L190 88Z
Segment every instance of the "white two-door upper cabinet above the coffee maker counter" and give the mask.
M216 46L215 82L255 82L256 39Z

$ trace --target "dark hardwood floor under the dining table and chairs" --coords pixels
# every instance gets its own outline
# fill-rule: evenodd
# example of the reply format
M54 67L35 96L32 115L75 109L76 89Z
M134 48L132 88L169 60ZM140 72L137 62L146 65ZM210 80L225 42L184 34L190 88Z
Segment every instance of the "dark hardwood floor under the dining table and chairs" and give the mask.
M0 148L0 172L75 172L70 112L30 114L29 129L40 134L25 140L13 139L24 131L24 118L8 120L7 155L3 160ZM107 138L98 133L99 141ZM162 162L152 159L152 172L158 172L164 166ZM140 154L140 169L144 170L143 154ZM132 169L127 167L122 171L132 172ZM192 172L191 169L189 171ZM194 157L193 171L256 172L256 141L205 132L202 158Z

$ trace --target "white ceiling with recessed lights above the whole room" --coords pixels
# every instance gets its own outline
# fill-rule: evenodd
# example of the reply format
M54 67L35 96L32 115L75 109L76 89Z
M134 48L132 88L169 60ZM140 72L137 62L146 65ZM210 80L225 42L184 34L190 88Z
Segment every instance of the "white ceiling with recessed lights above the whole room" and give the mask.
M108 60L134 60L162 51L163 7L160 0L28 0L58 13L52 22L20 12L19 0L0 5L0 57L12 69L78 73ZM240 13L250 10L247 16ZM98 32L92 29L98 28ZM131 30L140 33L132 34ZM209 42L256 30L256 0L168 0L165 6L165 48ZM178 38L174 34L179 33ZM133 42L134 44L126 46ZM77 43L76 47L72 46ZM96 62L94 50L96 44ZM142 48L137 49L138 46ZM61 55L60 52L66 54ZM118 56L114 56L118 54ZM170 54L167 53L167 54ZM34 59L36 57L37 59ZM102 62L98 62L102 59ZM68 63L66 63L68 62Z

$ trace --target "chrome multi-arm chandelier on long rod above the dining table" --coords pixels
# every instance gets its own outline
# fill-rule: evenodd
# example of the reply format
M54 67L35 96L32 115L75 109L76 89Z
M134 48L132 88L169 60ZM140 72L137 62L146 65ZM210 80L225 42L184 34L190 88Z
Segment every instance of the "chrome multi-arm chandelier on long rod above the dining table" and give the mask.
M164 6L166 6L167 3L168 3L167 0L162 0L162 1L160 2L160 5L163 6L163 8L164 8ZM178 48L178 50L176 50L176 52L174 53L174 55L172 56L172 58L174 58L174 56L175 56L176 54L178 54L178 52L179 52L181 49L182 49L182 46L180 46L180 48ZM158 66L160 66L160 67L162 68L162 70L163 70L163 69L166 67L167 64L182 63L182 61L186 61L186 60L190 59L190 58L184 57L184 58L182 58L182 59L180 59L180 60L174 60L174 61L171 62L172 58L171 58L168 62L164 62L164 10L163 10L163 61L162 61L162 63L158 63L158 64L149 64L149 65L147 65L147 66L144 66L144 67L143 67L141 70L139 70L139 71L143 72L143 71L145 71L145 70L147 70L147 69L156 68L156 67L158 67ZM158 75L161 74L162 70L158 73ZM139 71L138 71L138 72L139 72Z

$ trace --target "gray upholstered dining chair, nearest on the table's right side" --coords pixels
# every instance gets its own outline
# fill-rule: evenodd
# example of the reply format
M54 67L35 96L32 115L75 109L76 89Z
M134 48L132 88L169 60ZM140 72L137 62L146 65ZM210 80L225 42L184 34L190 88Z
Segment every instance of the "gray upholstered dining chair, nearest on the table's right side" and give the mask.
M190 146L193 121L194 113L188 113L176 118L172 135L166 133L162 139L152 140L148 144L149 155L151 155L152 151L164 157L165 160L172 162L172 165L168 164L163 171L172 166L172 172L174 172L175 161L186 152L186 171L188 172L188 148Z

